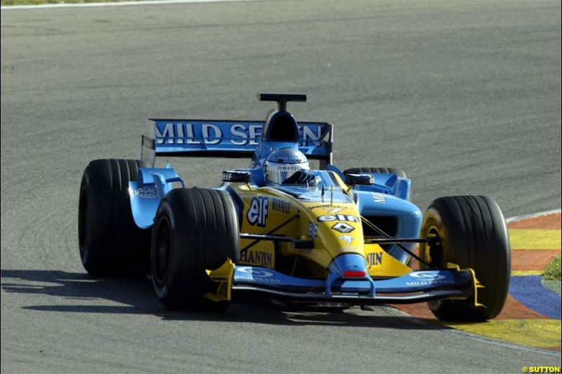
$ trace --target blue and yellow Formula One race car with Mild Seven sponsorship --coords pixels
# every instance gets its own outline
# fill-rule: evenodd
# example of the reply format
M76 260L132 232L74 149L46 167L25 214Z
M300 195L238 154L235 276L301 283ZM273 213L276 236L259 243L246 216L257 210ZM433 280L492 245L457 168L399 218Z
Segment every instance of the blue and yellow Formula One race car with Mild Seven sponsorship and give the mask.
M265 123L152 119L142 160L89 163L78 220L89 274L147 272L169 309L222 310L244 292L305 305L429 302L448 321L499 314L511 259L495 201L443 197L422 215L403 171L332 164L332 125L287 112L306 95L259 100L278 103ZM251 163L218 187L185 188L156 156Z

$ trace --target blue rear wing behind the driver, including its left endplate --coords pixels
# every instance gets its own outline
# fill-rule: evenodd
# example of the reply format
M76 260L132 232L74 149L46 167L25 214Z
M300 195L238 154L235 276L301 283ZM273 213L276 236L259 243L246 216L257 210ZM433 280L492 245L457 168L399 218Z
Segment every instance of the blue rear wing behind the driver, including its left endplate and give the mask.
M143 135L141 155L153 166L156 156L233 157L254 156L263 121L201 119L149 119L149 135ZM299 149L310 159L332 163L334 135L330 123L299 123Z

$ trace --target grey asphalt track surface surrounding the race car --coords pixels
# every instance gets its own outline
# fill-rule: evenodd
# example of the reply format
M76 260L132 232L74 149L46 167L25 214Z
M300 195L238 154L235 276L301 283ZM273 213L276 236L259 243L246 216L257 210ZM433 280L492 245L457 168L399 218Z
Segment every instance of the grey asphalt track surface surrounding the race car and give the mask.
M91 159L136 158L147 117L262 119L308 93L342 168L398 166L414 201L488 194L506 217L561 207L561 4L258 1L1 11L1 370L504 372L557 352L390 308L167 312L146 279L81 267ZM174 164L216 185L237 160Z

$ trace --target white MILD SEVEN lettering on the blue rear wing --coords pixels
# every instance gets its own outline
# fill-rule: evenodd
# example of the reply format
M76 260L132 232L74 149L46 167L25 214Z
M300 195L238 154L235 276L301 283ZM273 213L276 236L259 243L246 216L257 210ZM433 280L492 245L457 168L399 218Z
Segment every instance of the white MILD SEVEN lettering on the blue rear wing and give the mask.
M299 145L322 146L322 128L316 123L298 125ZM263 123L155 122L159 145L257 145Z

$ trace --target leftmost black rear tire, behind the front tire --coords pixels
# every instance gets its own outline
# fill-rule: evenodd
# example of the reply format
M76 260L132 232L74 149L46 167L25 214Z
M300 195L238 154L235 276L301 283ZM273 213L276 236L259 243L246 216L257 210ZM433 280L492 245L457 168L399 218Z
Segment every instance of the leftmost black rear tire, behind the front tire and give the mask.
M78 242L82 265L91 275L123 276L148 269L150 229L133 220L129 182L138 179L140 160L100 159L82 176Z

